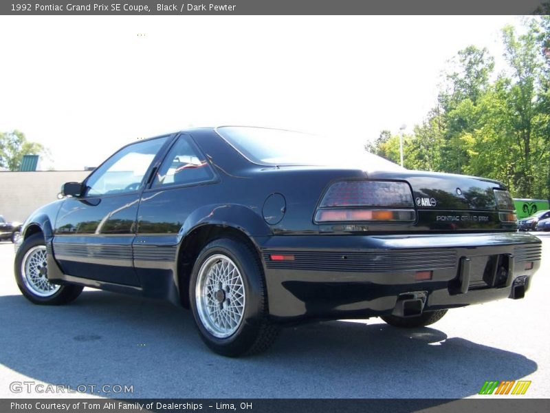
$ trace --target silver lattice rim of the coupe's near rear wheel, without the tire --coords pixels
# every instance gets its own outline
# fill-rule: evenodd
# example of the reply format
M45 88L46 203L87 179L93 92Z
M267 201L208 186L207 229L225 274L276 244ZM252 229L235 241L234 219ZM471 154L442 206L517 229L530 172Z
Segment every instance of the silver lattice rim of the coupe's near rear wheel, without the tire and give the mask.
M245 310L243 277L236 264L223 254L203 262L195 287L197 312L214 337L230 337L241 326Z

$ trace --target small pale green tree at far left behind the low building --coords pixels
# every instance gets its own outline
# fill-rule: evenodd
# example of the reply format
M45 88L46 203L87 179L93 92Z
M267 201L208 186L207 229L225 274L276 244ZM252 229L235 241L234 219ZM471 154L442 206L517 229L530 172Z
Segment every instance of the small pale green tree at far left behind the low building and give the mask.
M37 142L30 142L23 132L0 132L0 167L19 171L23 155L41 155L46 149Z

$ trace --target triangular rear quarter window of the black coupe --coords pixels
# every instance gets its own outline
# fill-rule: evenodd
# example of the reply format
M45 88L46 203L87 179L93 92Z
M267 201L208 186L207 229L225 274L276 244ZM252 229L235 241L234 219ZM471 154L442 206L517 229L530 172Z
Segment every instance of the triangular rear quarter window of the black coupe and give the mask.
M155 176L153 188L192 184L214 178L206 158L184 136L180 136L166 155Z

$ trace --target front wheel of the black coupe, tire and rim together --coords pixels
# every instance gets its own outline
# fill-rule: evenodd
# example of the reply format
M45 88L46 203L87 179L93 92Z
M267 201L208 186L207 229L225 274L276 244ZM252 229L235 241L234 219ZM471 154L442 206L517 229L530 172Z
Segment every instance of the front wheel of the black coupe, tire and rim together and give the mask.
M19 247L14 264L19 290L34 304L67 304L83 290L81 286L52 284L47 279L47 249L41 233L31 235Z

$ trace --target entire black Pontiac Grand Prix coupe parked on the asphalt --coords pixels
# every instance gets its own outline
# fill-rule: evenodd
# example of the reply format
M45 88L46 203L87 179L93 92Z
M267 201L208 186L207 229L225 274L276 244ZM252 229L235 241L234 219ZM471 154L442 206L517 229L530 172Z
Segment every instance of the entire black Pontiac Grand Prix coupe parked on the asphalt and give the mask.
M362 149L362 148L361 148ZM341 140L218 127L138 140L32 213L15 259L36 304L83 286L192 309L203 341L259 352L278 327L522 298L540 266L500 182L410 171Z

